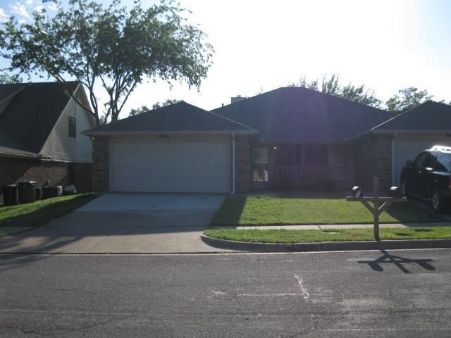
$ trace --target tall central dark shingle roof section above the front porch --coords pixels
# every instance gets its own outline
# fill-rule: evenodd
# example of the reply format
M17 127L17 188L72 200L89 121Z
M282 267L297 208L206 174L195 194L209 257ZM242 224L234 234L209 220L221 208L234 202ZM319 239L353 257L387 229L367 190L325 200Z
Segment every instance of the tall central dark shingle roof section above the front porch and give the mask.
M340 142L393 113L301 87L282 87L213 110L259 130L267 142Z

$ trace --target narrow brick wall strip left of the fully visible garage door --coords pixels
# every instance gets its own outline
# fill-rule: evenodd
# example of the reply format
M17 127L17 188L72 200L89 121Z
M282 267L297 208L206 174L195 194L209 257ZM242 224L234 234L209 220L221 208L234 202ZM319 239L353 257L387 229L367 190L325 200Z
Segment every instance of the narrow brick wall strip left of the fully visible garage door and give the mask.
M109 190L109 139L94 137L92 142L92 190L107 192Z

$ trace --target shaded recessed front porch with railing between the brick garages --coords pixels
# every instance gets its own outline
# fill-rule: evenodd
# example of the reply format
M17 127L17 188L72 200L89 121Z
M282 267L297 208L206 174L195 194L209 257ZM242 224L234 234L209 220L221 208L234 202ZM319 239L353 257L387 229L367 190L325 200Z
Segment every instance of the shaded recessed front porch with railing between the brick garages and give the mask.
M350 144L251 144L251 190L350 189Z

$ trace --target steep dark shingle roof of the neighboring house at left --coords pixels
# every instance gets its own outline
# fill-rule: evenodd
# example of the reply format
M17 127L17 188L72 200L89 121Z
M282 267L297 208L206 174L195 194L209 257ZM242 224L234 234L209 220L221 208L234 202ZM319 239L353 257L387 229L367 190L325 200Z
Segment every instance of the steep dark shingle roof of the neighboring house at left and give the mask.
M79 82L68 82L75 91ZM0 84L0 98L23 87L0 113L0 146L39 153L69 97L57 82ZM8 94L9 93L9 94Z

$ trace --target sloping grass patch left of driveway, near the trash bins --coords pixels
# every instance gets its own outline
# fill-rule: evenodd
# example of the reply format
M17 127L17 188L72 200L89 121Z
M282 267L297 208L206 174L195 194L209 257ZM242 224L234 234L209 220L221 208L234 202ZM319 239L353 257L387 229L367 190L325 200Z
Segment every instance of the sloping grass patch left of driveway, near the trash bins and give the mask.
M39 227L95 198L93 194L75 194L17 206L2 206L0 227Z

